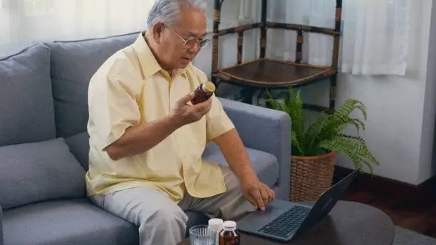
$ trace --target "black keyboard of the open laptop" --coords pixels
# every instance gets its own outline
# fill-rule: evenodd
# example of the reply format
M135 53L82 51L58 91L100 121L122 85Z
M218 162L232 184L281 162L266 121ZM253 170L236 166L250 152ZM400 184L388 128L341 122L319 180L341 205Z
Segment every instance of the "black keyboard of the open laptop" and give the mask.
M299 227L310 211L311 208L309 207L291 207L291 209L266 224L264 227L259 229L259 231L273 236L286 237Z

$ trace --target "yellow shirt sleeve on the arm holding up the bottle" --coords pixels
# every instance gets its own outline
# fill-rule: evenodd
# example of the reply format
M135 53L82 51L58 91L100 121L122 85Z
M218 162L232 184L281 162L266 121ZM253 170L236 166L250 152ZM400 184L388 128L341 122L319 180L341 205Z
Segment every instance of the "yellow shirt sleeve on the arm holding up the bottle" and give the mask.
M123 136L128 127L139 125L140 109L128 84L113 75L95 78L89 93L90 135L104 150Z

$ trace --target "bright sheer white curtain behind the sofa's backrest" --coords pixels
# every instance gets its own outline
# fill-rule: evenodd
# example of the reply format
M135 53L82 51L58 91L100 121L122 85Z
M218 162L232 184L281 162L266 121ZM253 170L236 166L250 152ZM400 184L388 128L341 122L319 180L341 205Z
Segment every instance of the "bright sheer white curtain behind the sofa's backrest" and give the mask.
M0 56L34 42L145 29L154 0L0 0Z

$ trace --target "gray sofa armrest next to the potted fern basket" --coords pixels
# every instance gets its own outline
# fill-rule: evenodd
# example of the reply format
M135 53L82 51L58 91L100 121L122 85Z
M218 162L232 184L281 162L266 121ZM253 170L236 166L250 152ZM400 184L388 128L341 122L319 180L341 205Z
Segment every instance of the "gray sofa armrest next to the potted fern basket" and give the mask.
M269 152L279 160L276 198L289 199L291 117L279 110L219 98L246 147Z

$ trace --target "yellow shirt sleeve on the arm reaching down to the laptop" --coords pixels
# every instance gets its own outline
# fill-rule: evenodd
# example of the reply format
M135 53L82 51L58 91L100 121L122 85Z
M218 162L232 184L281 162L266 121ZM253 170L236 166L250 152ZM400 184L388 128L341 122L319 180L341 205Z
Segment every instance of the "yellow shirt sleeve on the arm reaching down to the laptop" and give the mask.
M212 107L206 115L207 141L224 134L234 128L232 120L227 116L217 97L212 97Z

